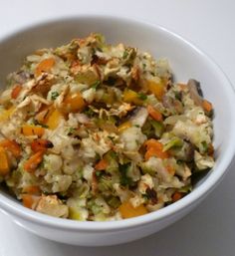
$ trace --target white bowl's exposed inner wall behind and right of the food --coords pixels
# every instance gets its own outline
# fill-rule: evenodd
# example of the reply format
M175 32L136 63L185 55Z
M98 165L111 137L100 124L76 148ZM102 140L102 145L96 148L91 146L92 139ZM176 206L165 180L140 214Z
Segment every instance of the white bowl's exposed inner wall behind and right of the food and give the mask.
M210 175L215 175L213 182L217 181L234 153L234 146L231 144L235 136L234 93L216 65L192 45L165 29L125 19L99 16L50 21L27 28L8 38L0 39L0 87L4 88L7 74L17 70L23 58L34 50L60 46L73 38L85 37L91 32L104 34L110 43L121 42L147 51L155 58L167 58L175 81L187 82L193 78L201 83L204 97L213 103L215 110L213 124L216 166L200 181L200 185L207 182ZM214 174L215 172L217 174ZM212 187L213 182L208 185L208 189ZM199 184L195 186L192 194L197 188ZM7 194L6 196L9 197Z

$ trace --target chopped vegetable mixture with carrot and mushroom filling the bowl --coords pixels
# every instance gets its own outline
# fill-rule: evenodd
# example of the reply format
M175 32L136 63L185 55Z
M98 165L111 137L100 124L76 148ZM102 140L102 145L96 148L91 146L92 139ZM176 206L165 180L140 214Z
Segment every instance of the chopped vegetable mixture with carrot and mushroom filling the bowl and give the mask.
M197 81L100 34L37 50L0 96L0 182L56 217L156 211L213 167L212 113Z

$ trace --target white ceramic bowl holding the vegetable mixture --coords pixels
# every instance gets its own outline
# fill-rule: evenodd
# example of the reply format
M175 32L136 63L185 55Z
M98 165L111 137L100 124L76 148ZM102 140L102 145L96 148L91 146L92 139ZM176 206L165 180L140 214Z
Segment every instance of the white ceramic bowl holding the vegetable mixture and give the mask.
M175 80L186 82L193 78L200 81L205 98L215 109L215 167L190 194L156 212L120 221L79 222L27 209L9 194L1 192L0 207L25 229L63 243L98 246L124 243L157 232L184 216L206 197L222 179L235 152L235 95L220 68L180 36L159 26L107 16L47 21L0 38L1 85L8 73L20 67L22 58L34 50L60 46L91 32L104 34L110 43L122 42L148 51L155 58L166 57Z

